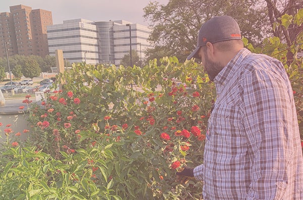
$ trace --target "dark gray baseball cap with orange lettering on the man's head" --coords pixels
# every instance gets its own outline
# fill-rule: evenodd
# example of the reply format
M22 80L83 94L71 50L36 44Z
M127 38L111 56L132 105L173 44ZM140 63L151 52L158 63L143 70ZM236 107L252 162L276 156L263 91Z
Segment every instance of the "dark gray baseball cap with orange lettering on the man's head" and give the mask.
M220 41L242 39L238 23L230 16L217 16L206 21L200 28L198 33L197 47L187 57L198 58L198 51L201 46L205 46L207 42L216 43Z

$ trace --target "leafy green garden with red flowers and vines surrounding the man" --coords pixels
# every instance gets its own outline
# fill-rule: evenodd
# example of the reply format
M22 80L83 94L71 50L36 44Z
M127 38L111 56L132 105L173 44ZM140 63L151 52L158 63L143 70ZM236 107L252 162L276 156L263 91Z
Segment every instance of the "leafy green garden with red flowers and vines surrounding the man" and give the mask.
M282 24L302 23L303 10ZM287 16L286 16L287 17ZM291 16L290 16L291 17ZM280 60L293 86L303 139L303 32L287 46L268 38L263 53ZM288 53L293 54L287 60ZM216 90L203 66L176 57L140 68L75 64L57 76L62 89L23 100L30 130L6 135L0 155L2 199L203 199L203 183L175 173L203 163ZM25 107L27 109L25 109ZM20 136L28 138L22 141Z

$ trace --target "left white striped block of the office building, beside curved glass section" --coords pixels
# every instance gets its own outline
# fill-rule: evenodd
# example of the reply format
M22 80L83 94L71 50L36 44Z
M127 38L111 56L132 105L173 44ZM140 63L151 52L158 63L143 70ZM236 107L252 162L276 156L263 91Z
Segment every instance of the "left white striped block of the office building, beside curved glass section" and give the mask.
M99 62L97 30L92 21L74 19L47 26L47 40L51 56L55 56L56 49L62 49L64 59L70 63Z

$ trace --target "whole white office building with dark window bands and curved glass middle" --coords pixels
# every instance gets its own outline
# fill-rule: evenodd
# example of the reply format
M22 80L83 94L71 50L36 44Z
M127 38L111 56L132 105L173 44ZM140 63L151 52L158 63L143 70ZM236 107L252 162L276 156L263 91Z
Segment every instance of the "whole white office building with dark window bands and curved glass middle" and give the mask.
M130 24L130 30L127 24ZM147 41L150 30L147 26L124 20L93 22L75 19L47 26L49 54L55 55L56 49L62 49L63 56L70 63L86 60L88 64L119 65L124 55L130 52L130 31L132 49L143 59L143 52L151 47Z

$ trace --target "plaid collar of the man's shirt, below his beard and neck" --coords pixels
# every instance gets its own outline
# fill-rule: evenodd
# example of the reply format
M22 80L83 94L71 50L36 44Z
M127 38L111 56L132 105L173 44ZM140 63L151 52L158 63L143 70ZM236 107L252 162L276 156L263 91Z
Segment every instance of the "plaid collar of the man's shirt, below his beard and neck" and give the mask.
M219 72L219 74L215 77L214 82L217 85L225 85L228 80L234 76L234 74L239 71L239 68L242 67L240 63L243 59L251 54L251 52L246 49L242 48L238 54L229 61L229 63ZM217 88L218 89L218 88Z

